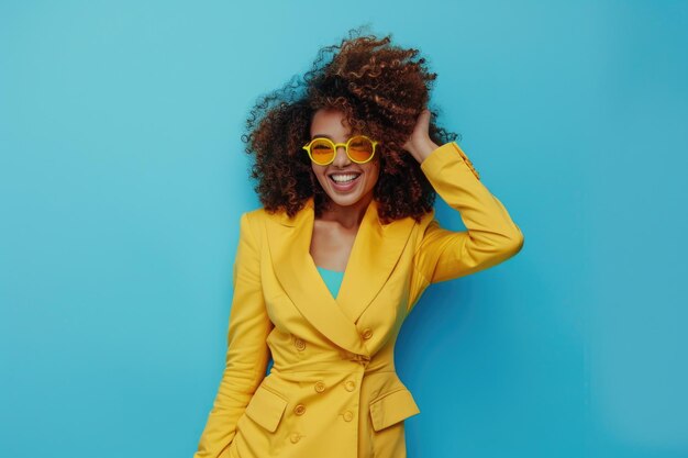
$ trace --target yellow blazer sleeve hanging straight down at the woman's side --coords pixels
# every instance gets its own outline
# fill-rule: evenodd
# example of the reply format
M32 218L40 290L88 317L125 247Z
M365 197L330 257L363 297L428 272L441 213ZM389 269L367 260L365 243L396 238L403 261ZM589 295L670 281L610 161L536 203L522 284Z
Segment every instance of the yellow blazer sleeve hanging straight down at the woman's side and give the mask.
M269 348L266 340L274 325L265 308L259 247L248 216L244 213L240 220L225 368L195 458L229 456L236 422L267 369Z

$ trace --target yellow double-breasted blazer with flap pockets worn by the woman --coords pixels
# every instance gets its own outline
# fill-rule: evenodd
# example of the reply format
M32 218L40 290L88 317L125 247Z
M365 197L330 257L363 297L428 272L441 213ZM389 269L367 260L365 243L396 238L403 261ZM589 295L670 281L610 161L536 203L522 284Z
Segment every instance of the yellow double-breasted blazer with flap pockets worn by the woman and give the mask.
M406 457L403 420L420 410L395 370L401 324L431 283L523 245L455 142L421 169L468 231L441 227L434 210L382 225L373 200L336 299L309 252L313 198L292 219L242 214L226 367L195 458Z

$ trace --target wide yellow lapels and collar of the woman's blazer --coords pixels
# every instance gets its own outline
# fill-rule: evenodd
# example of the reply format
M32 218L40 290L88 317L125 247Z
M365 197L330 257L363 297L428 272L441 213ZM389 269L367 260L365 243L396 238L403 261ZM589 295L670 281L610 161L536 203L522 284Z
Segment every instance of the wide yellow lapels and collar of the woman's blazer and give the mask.
M377 202L370 201L335 300L310 255L313 197L293 217L288 217L286 212L276 216L268 217L267 239L275 275L287 295L330 340L348 351L371 356L356 322L395 268L414 225L413 219L404 217L382 225Z

